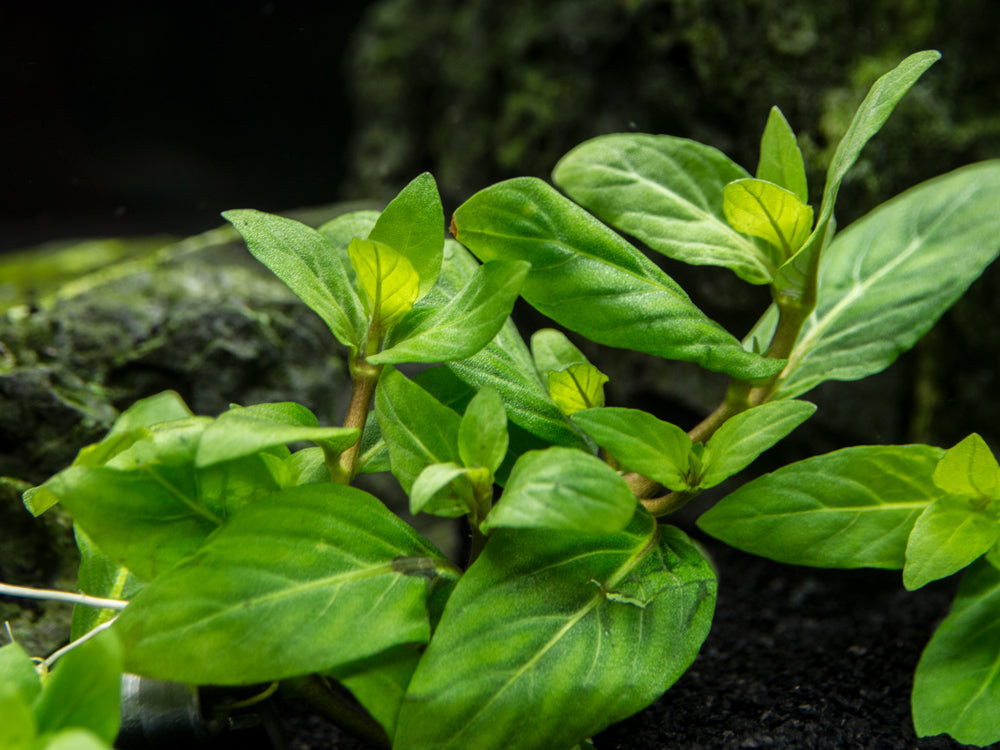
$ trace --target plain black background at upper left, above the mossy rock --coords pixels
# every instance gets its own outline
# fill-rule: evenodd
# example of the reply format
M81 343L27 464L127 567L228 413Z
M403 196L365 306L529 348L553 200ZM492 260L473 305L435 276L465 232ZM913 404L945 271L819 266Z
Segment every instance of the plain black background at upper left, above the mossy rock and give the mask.
M335 200L368 4L0 4L0 250Z

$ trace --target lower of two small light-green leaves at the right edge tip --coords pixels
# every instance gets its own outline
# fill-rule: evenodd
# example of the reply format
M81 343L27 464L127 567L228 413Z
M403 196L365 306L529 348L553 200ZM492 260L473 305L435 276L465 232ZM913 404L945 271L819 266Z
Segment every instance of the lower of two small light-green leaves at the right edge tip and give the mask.
M986 554L1000 540L1000 504L968 495L931 503L910 532L903 585L914 591L950 576Z

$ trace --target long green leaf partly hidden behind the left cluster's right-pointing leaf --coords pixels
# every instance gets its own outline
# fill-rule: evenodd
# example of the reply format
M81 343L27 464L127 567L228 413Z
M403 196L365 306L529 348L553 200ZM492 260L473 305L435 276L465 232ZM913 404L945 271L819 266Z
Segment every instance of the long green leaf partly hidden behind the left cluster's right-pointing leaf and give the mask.
M454 240L445 243L445 263L438 289L453 297L479 268L479 263ZM474 388L493 388L503 399L507 417L532 435L550 443L584 447L583 439L549 397L538 377L528 347L508 319L493 340L471 357L446 363L448 369Z

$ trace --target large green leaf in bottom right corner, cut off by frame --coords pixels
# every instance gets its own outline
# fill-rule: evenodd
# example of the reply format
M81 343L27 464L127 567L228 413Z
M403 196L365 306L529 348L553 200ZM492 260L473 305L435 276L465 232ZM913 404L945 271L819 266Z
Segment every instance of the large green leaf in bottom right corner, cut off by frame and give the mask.
M917 736L947 732L958 742L1000 741L1000 570L985 560L962 579L958 595L913 680Z

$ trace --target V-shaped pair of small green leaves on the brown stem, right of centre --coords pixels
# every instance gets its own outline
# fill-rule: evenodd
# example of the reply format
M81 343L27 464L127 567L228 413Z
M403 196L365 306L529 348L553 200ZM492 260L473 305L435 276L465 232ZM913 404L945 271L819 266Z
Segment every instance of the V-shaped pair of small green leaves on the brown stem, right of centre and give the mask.
M573 421L622 466L671 490L698 490L749 466L815 411L804 401L762 404L726 421L704 450L680 427L637 409L588 409Z

